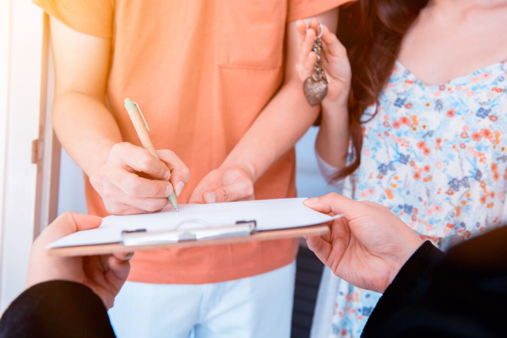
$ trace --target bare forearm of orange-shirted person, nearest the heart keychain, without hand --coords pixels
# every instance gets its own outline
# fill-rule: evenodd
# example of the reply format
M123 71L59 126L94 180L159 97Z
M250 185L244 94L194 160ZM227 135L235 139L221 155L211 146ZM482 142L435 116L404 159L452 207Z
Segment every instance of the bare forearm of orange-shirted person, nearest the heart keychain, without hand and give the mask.
M301 82L289 80L250 126L222 167L239 165L256 181L291 149L317 118L319 107L306 102Z

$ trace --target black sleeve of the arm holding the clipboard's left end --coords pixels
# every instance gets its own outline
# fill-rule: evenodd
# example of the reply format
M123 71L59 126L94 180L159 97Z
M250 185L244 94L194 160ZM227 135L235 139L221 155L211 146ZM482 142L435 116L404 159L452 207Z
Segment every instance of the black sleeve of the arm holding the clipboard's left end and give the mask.
M49 281L25 290L0 320L0 337L115 337L101 299L87 286Z

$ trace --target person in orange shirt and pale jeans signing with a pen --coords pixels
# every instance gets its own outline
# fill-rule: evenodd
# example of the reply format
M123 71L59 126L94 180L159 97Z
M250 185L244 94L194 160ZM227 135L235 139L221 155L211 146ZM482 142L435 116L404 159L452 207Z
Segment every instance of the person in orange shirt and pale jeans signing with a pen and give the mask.
M296 196L293 146L319 107L295 69L315 31L298 40L295 20L336 30L344 0L33 2L51 16L53 124L83 169L90 214L155 212L173 191L179 203ZM161 161L140 147L126 97ZM297 247L138 252L113 326L121 337L288 336Z

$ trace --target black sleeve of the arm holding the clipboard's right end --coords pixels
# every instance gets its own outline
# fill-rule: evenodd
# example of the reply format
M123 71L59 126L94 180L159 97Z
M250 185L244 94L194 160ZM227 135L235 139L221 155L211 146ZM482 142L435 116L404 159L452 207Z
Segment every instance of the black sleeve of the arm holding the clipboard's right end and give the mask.
M385 290L362 337L504 337L507 227L449 250L425 242Z

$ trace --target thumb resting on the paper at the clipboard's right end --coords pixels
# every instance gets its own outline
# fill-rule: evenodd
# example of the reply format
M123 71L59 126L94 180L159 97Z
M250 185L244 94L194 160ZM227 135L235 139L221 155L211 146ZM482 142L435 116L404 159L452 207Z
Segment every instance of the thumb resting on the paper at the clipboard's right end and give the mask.
M342 196L335 192L304 200L306 206L323 214L342 214L345 219L349 219L357 212L362 205L360 202L354 201L348 197Z

